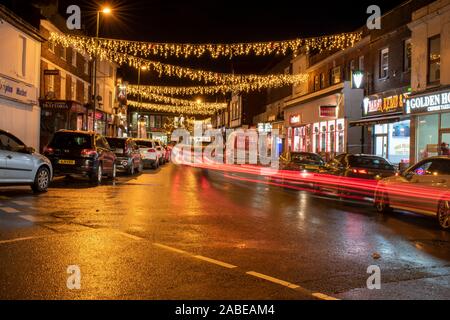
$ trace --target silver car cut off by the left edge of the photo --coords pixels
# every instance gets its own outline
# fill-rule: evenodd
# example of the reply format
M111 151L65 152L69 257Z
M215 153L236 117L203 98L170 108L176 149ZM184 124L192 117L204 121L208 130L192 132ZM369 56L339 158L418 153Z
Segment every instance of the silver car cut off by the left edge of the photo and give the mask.
M46 192L52 177L49 159L0 130L0 185L29 185L34 192Z

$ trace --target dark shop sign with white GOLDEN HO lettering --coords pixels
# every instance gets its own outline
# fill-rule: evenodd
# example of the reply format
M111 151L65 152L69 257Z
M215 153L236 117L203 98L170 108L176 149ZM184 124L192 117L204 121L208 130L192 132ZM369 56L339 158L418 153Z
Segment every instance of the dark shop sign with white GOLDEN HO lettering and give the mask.
M406 101L406 113L450 110L450 91L411 97Z

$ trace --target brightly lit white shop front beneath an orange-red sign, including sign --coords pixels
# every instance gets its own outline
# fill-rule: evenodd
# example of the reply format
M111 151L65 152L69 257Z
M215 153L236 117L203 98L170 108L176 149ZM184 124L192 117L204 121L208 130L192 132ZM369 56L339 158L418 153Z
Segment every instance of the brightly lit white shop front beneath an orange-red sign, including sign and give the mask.
M350 123L366 129L365 153L400 167L409 164L411 129L409 116L405 115L408 95L409 89L401 88L365 97L362 119Z

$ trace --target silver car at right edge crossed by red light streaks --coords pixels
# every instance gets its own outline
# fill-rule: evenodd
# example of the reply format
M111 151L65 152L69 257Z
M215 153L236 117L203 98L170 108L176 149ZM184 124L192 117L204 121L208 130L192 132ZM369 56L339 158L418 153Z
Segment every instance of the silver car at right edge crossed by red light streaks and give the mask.
M379 181L374 204L380 213L398 209L433 216L450 229L450 157L422 160Z

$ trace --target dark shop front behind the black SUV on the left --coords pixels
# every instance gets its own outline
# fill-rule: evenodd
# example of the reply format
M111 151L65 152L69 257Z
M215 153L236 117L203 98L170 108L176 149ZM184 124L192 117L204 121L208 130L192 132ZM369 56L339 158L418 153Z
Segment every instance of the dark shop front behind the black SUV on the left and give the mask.
M87 109L76 101L41 100L41 150L61 129L86 130Z

